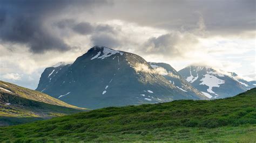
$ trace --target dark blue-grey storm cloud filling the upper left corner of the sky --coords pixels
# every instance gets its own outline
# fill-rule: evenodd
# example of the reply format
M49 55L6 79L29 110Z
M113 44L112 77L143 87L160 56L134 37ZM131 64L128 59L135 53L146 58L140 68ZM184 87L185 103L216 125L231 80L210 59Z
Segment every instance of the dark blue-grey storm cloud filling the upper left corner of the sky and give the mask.
M0 39L3 42L26 44L30 51L42 53L47 50L65 51L70 48L49 25L48 17L64 12L66 8L90 8L104 1L0 1ZM86 25L77 25L76 31L89 32Z

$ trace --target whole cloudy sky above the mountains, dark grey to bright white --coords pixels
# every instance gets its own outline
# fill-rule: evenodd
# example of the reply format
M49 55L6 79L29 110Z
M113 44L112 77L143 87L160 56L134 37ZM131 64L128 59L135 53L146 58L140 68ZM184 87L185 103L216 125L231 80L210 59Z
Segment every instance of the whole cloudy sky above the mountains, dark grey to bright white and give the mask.
M0 80L35 89L94 45L255 77L255 1L0 0Z

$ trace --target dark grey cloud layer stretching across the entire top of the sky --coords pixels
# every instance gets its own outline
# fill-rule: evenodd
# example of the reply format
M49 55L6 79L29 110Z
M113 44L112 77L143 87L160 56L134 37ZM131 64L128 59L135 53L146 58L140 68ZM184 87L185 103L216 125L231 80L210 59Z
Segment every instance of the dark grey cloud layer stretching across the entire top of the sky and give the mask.
M60 18L60 15L70 19L61 20L63 17ZM91 17L91 21L83 22L87 16ZM113 45L118 45L114 38L118 30L111 25L95 23L119 19L167 31L193 31L198 27L199 17L204 18L206 30L212 35L254 31L255 1L2 0L0 40L28 45L34 53L66 51L71 48L70 45L65 44L63 37L51 27L57 22L57 27L63 30L70 28L78 34L91 34L92 43L110 44L107 42L110 40ZM109 35L107 33L112 37L106 36Z

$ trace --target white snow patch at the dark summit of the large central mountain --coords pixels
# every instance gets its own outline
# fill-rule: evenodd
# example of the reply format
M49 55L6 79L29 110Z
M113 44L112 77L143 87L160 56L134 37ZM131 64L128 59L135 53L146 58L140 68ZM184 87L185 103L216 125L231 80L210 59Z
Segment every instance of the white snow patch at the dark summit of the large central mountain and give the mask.
M97 49L97 48L100 48L100 49L103 49L101 51L99 51L95 56L93 56L91 58L91 60L93 59L105 59L111 55L114 55L114 54L120 54L120 55L123 55L124 53L123 52L120 52L120 51L116 51L116 50L113 50L113 49L110 49L110 48L107 48L107 47L102 47L102 46L95 46L93 47L93 49Z

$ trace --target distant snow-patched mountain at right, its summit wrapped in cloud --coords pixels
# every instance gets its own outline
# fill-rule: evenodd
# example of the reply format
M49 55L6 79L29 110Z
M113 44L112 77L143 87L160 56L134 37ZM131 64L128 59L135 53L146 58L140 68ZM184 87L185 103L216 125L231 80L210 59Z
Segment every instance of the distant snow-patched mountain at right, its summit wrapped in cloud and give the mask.
M208 66L188 66L179 70L179 73L211 99L232 97L249 89L245 83L235 78L236 74Z

